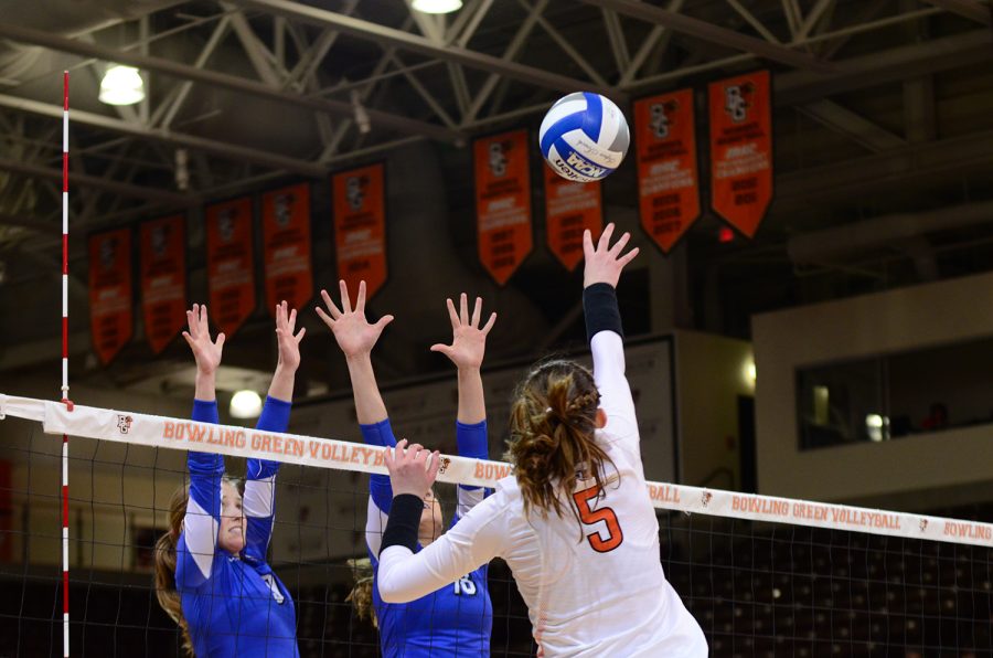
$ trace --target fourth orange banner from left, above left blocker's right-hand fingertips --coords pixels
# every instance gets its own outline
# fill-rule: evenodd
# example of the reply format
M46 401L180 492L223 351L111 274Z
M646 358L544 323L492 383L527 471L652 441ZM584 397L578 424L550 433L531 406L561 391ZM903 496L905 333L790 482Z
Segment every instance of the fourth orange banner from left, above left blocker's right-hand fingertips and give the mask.
M302 309L313 294L308 183L263 194L263 254L269 314L284 299Z

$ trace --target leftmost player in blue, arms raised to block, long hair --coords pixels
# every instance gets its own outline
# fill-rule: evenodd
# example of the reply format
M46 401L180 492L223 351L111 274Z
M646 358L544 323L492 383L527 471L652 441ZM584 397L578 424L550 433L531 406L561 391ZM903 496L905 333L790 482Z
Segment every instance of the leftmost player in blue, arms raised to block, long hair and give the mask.
M276 308L279 362L258 420L286 432L303 329L297 311ZM224 335L211 340L206 307L186 311L183 338L196 359L193 420L217 423L214 379ZM266 562L275 519L278 461L248 459L244 497L224 474L224 458L188 453L190 489L177 491L170 531L156 546L159 604L179 624L184 648L199 658L299 656L293 601Z

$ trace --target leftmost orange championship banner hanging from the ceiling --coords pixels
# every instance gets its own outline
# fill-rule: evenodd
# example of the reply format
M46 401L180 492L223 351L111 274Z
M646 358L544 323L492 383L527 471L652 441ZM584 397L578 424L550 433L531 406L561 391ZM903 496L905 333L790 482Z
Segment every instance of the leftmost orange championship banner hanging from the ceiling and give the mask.
M89 236L89 332L105 365L131 340L131 230Z

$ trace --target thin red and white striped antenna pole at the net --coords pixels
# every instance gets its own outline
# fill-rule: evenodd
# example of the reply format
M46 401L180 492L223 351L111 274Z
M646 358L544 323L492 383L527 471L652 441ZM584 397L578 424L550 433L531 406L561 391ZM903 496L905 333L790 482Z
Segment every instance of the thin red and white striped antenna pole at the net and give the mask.
M62 402L68 396L68 71L62 74ZM62 655L68 656L68 435L62 435Z

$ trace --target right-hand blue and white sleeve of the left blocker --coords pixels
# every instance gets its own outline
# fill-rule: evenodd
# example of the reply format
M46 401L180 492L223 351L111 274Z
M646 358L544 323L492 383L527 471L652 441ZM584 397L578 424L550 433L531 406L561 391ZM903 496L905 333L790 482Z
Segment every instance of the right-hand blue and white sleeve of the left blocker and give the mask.
M286 432L291 408L292 403L267 396L256 429ZM279 461L255 458L248 459L247 464L243 509L248 520L248 537L242 555L255 564L266 562L266 551L273 537L276 521L276 474L279 466Z

